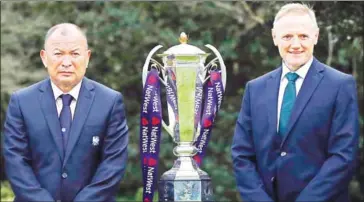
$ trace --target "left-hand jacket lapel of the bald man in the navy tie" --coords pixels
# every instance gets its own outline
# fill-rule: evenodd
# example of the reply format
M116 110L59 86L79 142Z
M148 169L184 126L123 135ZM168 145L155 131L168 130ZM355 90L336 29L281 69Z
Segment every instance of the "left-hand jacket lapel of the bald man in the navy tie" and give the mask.
M40 85L39 90L39 103L41 105L43 115L45 117L49 130L51 131L53 140L56 143L56 148L58 150L61 161L63 161L64 149L62 143L61 126L59 124L56 101L54 99L50 79L45 80Z

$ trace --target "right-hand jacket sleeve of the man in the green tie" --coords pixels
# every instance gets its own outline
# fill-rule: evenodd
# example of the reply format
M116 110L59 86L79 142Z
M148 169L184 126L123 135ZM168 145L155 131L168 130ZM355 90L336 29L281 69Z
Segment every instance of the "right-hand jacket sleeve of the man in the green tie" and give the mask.
M359 112L353 77L340 87L330 130L329 158L297 201L331 201L349 186L355 171L359 141Z

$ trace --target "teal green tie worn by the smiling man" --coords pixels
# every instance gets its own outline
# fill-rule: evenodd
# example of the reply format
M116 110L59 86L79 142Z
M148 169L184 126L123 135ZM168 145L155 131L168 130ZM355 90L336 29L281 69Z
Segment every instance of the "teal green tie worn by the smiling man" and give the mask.
M278 134L282 137L287 130L294 101L296 100L296 80L298 75L296 73L289 72L286 74L286 78L288 79L288 84L284 90L278 127Z

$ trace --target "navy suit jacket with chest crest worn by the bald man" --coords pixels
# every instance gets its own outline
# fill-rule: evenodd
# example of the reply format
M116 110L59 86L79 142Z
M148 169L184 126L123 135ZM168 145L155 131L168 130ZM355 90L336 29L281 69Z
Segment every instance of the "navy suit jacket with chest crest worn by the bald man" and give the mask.
M4 135L15 201L115 200L128 144L120 93L83 79L65 155L50 79L12 94Z

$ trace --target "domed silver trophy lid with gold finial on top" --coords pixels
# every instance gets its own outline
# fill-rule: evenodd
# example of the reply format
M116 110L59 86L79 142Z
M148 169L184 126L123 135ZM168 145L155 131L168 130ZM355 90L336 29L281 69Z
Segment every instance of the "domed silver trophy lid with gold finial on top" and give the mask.
M193 55L206 54L203 50L197 48L196 46L187 44L188 37L187 37L186 33L184 33L184 32L181 33L181 35L179 37L179 41L181 44L170 47L168 50L164 51L162 55L164 56L164 55L173 54L176 56L179 56L179 55L193 56Z

